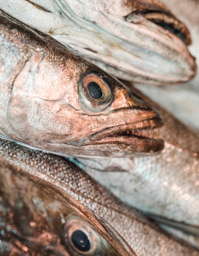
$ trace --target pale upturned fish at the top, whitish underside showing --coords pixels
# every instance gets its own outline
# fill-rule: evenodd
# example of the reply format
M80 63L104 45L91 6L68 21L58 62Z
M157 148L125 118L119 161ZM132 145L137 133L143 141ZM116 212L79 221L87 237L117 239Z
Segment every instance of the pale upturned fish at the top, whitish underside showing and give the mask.
M195 75L188 29L158 0L0 0L0 7L120 79L163 85Z

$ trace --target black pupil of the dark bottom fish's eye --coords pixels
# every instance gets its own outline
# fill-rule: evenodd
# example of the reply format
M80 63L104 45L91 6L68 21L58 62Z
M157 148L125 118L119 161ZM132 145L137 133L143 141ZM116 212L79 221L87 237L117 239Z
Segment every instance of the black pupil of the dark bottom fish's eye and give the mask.
M91 247L89 238L81 230L74 231L71 236L71 240L74 246L82 252L87 252Z

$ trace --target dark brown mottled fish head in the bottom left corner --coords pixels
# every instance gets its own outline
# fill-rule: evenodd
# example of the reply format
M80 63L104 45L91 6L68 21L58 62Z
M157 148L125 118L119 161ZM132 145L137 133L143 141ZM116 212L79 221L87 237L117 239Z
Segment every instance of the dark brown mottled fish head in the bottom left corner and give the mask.
M2 158L0 255L136 256L103 218Z

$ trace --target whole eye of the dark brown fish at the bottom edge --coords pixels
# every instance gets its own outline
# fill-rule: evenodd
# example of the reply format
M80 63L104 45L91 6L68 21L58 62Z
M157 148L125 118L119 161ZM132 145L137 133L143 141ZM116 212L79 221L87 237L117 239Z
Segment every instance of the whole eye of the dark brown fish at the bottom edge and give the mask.
M92 225L78 216L68 216L64 225L65 244L76 256L104 256L101 236Z

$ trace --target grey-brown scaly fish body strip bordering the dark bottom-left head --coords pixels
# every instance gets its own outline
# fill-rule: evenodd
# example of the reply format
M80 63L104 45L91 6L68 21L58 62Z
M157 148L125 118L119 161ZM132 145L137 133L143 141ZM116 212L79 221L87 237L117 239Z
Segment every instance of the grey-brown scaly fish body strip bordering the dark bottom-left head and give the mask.
M70 195L71 200L92 209L105 219L127 241L137 256L197 256L199 252L164 234L143 215L126 207L98 185L89 175L67 159L23 148L10 141L0 141L0 157L22 168L26 175L42 182L45 191L50 186L60 189L58 195ZM69 197L69 198L70 198ZM114 246L113 246L114 247Z

